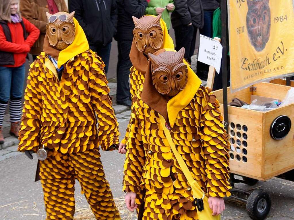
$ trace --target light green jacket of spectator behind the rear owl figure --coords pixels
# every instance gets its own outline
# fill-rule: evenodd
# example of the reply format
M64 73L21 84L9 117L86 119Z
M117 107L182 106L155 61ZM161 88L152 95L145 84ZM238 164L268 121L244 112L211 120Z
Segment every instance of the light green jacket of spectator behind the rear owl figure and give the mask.
M164 8L165 6L167 6L168 3L173 3L173 0L150 0L148 3L148 7L146 8L145 14L153 14L153 15L158 15L155 11L156 8ZM175 8L173 8L174 10ZM166 23L166 27L169 30L169 28L171 27L171 17L169 15L169 12L167 9L165 9L162 12L161 18L163 19L163 21Z

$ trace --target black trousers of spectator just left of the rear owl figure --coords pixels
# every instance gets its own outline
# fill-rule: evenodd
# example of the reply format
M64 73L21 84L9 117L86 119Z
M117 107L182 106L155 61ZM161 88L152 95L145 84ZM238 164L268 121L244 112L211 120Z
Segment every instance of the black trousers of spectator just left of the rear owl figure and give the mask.
M131 97L130 85L129 85L129 75L130 68L132 66L130 60L132 41L118 41L118 62L116 68L117 77L117 90L116 90L116 100L119 102L124 102Z

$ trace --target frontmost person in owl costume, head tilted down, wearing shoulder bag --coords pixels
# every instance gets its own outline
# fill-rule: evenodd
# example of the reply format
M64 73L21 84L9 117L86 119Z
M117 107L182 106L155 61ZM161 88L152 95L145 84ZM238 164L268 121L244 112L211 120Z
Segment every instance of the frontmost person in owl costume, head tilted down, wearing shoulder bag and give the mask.
M198 219L191 186L166 139L166 120L177 151L204 192L212 214L225 209L230 196L229 143L219 102L205 88L179 52L149 54L143 89L133 98L126 141L123 191L130 211L142 203L143 219Z

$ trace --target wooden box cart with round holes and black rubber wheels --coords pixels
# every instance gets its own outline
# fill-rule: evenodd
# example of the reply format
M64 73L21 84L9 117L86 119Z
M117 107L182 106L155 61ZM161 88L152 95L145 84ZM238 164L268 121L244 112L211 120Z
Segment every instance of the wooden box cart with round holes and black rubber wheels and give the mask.
M283 100L289 88L273 83L258 83L232 94L228 87L228 101L239 98L250 103L250 95ZM213 94L220 101L220 109L223 112L223 90L216 90ZM273 122L280 116L287 116L294 122L294 103L266 112L228 106L227 128L233 187L236 182L254 185L258 180L272 177L294 181L294 126L286 125L290 131L281 140L275 140L270 134ZM283 130L284 126L278 125L276 129ZM234 174L240 175L243 180L235 179ZM247 213L251 219L266 218L271 206L267 192L257 189L250 193L233 188L232 193L233 198L246 202ZM240 194L245 195L245 198L240 197Z

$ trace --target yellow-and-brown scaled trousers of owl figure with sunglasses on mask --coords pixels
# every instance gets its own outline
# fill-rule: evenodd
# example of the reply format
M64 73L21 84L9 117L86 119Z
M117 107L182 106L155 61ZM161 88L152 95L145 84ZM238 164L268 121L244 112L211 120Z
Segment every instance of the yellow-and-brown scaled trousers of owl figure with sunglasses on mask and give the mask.
M47 218L74 219L75 180L96 219L120 219L108 182L105 179L99 150L61 154L54 152L40 161L40 178L44 192Z

